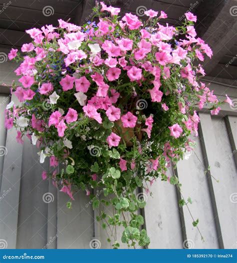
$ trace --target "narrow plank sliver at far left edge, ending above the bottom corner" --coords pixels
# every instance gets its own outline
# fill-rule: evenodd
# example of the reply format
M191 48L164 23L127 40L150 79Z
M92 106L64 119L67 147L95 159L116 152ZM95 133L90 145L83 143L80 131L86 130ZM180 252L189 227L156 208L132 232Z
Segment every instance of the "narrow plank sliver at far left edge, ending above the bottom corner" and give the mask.
M4 125L4 110L9 103L9 95L0 94L0 188L1 188L1 174L3 169L3 161L5 156L5 142L6 142L6 129Z

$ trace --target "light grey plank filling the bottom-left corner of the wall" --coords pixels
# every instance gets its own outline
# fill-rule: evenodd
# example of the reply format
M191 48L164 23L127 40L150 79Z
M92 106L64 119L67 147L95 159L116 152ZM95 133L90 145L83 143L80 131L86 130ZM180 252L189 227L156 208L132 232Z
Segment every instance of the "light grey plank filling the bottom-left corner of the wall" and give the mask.
M14 96L11 99L17 101ZM0 191L0 196L8 192L0 201L0 238L6 240L7 248L16 248L22 145L15 137L15 129L7 131L8 154L4 157Z

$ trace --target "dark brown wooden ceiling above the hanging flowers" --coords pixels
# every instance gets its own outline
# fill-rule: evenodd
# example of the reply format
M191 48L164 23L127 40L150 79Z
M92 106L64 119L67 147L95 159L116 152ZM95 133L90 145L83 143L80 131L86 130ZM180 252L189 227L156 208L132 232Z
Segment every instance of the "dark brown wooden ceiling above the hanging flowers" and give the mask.
M0 51L19 48L30 41L25 30L44 24L57 24L62 18L76 24L90 20L94 0L0 0ZM196 31L213 49L204 61L209 79L227 79L237 85L236 0L104 0L125 12L140 14L142 8L163 10L165 22L178 25L188 10L197 15ZM235 7L234 7L235 6ZM235 8L235 9L234 9ZM44 11L43 11L44 10ZM142 13L141 13L142 14ZM143 16L140 16L143 18ZM164 21L163 21L164 22Z

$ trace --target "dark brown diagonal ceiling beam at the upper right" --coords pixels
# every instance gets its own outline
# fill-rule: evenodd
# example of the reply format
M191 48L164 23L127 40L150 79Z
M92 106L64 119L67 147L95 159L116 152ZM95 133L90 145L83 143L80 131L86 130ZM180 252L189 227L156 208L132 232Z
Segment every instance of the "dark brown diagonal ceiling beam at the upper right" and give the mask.
M204 0L196 10L196 31L213 51L211 59L204 61L206 74L213 71L220 59L237 40L237 19L231 15L235 0Z

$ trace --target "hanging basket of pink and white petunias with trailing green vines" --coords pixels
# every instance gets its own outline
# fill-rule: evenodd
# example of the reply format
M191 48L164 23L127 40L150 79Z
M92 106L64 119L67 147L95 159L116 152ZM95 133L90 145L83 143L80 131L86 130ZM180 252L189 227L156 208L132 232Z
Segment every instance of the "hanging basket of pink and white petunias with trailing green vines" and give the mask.
M97 23L59 19L57 27L26 30L32 42L8 54L20 63L20 85L13 83L11 92L21 104L7 105L5 126L17 128L19 143L25 134L39 148L40 162L49 157L52 169L43 179L71 199L73 189L85 190L104 228L123 225L122 242L146 245L136 212L145 200L134 191L149 192L147 182L157 178L180 187L166 171L192 150L196 109L217 114L223 102L199 81L205 73L196 61L212 52L196 37L192 13L173 27L160 23L163 11L147 10L141 21L131 13L119 18L120 9L103 2L100 7ZM227 96L225 102L232 103ZM110 198L94 198L96 187ZM113 216L106 205L115 207Z

